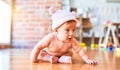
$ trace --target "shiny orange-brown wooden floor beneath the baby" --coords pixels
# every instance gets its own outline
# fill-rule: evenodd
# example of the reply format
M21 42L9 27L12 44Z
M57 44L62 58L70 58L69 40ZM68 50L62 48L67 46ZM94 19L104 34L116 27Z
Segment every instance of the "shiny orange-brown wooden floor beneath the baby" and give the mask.
M87 50L88 55L97 60L97 65L85 64L77 54L72 64L30 63L30 52L31 49L0 50L0 70L120 70L120 57L110 51Z

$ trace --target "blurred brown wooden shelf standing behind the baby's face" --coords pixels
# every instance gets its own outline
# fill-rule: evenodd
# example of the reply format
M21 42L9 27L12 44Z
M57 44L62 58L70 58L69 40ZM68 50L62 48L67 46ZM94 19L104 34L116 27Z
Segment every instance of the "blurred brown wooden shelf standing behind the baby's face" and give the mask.
M90 30L92 30L94 27L92 25L92 23L90 22L89 18L79 18L79 22L81 23L80 25L80 42L84 42L85 39L90 40L89 43L94 43L94 33L92 32L92 34L90 36L84 37L83 34L87 33L88 35L90 34ZM86 41L88 41L86 40Z

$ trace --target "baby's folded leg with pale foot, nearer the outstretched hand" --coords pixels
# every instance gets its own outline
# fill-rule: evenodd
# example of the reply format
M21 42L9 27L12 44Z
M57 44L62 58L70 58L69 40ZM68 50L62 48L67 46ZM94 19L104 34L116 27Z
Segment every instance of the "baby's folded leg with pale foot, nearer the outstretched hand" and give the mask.
M67 54L64 54L58 59L58 62L60 63L72 63L72 52L69 52Z

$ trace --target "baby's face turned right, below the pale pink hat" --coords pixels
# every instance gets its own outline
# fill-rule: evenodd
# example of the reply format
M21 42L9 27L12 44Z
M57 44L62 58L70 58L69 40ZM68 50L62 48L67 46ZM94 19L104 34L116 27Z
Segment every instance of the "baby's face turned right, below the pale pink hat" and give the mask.
M70 42L74 37L75 29L76 29L75 21L65 22L57 29L58 38L63 42Z

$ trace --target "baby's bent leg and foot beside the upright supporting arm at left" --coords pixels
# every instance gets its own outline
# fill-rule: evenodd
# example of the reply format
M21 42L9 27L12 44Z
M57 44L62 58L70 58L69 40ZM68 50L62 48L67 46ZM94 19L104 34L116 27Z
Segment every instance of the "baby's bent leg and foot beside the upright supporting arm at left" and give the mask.
M45 50L41 50L38 59L42 61L50 61L50 63L57 63L58 61L58 57L49 55Z

